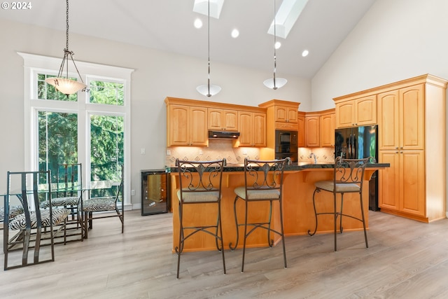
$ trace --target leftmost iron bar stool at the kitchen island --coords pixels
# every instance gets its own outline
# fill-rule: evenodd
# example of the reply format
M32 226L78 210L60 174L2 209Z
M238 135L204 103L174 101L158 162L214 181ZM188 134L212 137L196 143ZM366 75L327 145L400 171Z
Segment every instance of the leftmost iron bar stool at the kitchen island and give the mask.
M207 232L215 237L216 249L221 251L223 257L223 269L225 274L225 258L223 246L223 226L221 225L221 181L223 178L223 160L214 161L187 161L176 159L176 167L179 172L179 245L175 250L177 258L177 276L179 279L179 267L183 245L189 237L197 232ZM193 226L183 225L185 206L194 204L216 204L218 209L216 224L197 223Z

